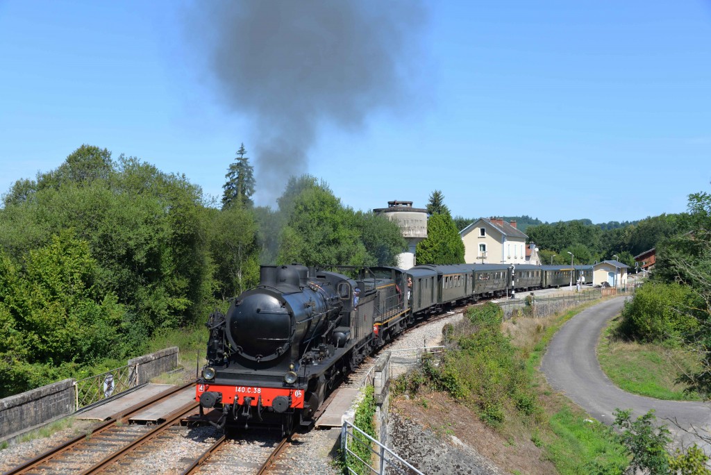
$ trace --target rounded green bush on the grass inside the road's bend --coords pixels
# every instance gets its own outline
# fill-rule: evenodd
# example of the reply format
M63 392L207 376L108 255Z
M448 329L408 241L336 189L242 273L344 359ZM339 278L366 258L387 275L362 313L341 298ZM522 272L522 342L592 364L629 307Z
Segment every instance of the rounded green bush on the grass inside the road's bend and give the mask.
M622 309L619 331L628 338L663 342L683 338L697 329L692 290L680 284L647 282Z

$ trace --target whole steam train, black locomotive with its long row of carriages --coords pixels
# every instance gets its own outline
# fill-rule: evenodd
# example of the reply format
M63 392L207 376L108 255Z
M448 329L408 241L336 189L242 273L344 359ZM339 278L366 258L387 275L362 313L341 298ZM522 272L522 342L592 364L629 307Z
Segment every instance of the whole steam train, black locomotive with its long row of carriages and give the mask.
M577 268L577 269L576 269ZM302 265L262 266L260 284L208 319L196 400L218 427L314 422L338 378L417 319L482 297L592 281L592 266L370 267L355 278Z

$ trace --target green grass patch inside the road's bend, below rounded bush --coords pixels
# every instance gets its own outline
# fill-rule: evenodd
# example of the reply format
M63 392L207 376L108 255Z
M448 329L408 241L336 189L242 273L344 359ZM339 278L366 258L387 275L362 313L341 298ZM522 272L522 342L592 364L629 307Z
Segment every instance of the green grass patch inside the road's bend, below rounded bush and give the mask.
M682 371L693 371L698 362L679 348L656 343L621 341L614 335L617 319L602 333L597 348L602 370L628 393L664 400L701 400L695 392L676 380Z

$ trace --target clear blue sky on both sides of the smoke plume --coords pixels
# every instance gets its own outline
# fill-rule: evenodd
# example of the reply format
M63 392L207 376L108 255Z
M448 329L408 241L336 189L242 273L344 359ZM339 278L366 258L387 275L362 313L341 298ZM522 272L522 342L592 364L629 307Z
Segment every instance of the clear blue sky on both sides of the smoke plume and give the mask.
M346 205L424 207L439 189L454 215L602 223L678 213L709 191L710 2L425 7L406 103L354 127L324 121L306 151L303 172ZM0 192L84 143L213 196L241 142L259 169L264 131L201 67L190 11L0 0Z

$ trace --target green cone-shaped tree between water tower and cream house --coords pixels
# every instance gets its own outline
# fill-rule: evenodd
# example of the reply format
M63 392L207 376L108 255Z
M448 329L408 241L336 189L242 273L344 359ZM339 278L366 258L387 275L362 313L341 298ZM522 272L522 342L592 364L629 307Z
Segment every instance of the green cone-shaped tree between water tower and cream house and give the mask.
M464 242L449 213L435 213L427 220L427 239L417 244L417 264L462 264Z

